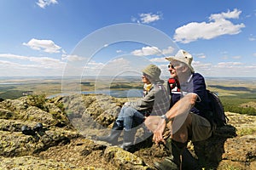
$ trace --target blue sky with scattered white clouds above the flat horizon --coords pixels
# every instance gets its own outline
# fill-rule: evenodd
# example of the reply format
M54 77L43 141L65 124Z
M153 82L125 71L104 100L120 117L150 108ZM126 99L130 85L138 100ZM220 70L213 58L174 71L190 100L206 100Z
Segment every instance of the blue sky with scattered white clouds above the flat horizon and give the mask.
M0 77L139 74L184 49L205 77L256 77L255 0L2 0Z

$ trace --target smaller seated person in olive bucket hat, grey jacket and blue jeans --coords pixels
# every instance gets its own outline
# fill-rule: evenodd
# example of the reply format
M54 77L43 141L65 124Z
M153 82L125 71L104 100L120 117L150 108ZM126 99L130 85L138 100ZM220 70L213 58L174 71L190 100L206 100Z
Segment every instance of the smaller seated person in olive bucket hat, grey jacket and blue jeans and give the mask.
M160 68L156 65L148 65L143 69L142 82L144 83L143 98L134 102L126 102L123 105L117 120L113 123L112 131L108 136L98 139L117 144L120 133L124 130L124 150L133 151L133 143L137 126L142 124L146 116L163 115L168 111L170 99L160 80Z

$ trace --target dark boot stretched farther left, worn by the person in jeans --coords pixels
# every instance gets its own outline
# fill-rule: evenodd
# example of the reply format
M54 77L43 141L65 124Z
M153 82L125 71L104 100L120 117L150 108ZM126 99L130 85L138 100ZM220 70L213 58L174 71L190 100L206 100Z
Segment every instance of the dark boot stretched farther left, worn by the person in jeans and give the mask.
M108 142L110 144L118 144L119 135L124 129L123 122L114 122L111 133L107 136L100 136L96 139Z

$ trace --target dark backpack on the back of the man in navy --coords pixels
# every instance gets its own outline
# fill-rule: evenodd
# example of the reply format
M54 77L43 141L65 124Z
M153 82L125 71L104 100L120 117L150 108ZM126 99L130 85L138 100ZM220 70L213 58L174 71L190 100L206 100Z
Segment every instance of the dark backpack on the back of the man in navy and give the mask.
M229 118L225 116L224 106L222 105L218 95L214 92L207 90L208 98L210 99L210 119L217 127L223 127L229 121Z

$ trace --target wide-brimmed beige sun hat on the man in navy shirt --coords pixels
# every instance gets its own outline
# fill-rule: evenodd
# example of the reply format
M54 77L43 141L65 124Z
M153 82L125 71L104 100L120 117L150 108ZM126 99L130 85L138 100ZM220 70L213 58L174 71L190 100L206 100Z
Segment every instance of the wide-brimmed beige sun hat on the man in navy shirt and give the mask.
M183 62L189 66L189 69L191 70L192 73L195 72L194 68L191 65L193 56L183 49L178 50L177 54L175 54L175 56L166 57L166 59L169 60L170 62L172 62L174 60Z

